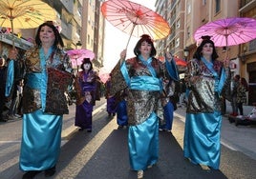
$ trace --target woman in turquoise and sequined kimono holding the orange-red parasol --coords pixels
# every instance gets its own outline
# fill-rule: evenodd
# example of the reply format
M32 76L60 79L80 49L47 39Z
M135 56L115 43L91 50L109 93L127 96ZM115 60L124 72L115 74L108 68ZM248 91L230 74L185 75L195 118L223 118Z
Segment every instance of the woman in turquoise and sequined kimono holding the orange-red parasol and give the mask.
M127 88L128 148L131 169L143 177L143 170L159 160L159 121L162 119L161 78L179 78L174 60L168 53L165 63L154 58L156 49L149 35L142 35L134 52L136 57L119 63L112 70L112 92ZM120 53L125 59L126 50Z

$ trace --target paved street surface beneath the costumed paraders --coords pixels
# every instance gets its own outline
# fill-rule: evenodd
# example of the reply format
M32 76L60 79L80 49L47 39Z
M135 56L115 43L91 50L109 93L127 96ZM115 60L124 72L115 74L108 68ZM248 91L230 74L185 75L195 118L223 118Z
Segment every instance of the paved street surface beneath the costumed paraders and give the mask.
M230 124L226 117L222 128L220 170L195 166L183 158L182 140L185 109L175 111L172 133L160 132L160 160L144 172L145 179L251 179L256 176L256 127ZM74 127L75 105L64 115L62 148L57 179L135 179L137 172L129 169L127 129L117 129L117 118L106 112L105 99L96 102L93 131ZM19 148L21 119L0 123L0 178L20 179ZM43 172L36 179L44 178Z

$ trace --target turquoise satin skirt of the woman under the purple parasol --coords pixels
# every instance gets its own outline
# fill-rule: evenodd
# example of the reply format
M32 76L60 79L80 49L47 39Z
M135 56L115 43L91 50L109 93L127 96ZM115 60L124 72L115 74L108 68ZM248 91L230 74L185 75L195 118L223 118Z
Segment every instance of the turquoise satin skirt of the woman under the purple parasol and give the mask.
M184 157L194 164L220 168L221 112L186 114Z

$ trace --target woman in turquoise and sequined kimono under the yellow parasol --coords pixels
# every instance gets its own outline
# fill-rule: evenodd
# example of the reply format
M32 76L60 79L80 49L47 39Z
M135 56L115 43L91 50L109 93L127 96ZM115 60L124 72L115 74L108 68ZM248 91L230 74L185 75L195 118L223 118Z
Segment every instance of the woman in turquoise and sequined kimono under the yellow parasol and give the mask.
M60 153L63 114L68 113L65 91L72 84L72 66L53 22L39 26L36 46L24 55L20 169L23 179L44 171L52 176Z

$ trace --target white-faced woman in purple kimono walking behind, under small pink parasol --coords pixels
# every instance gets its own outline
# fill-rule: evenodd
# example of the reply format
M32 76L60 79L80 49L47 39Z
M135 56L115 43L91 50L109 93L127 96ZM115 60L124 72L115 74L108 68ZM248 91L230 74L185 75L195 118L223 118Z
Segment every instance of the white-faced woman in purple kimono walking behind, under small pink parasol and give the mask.
M76 101L75 126L80 131L86 129L92 131L93 109L96 105L96 71L90 58L85 58L81 65L81 71L77 75L76 90L80 94Z

